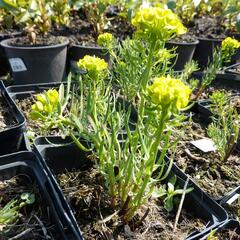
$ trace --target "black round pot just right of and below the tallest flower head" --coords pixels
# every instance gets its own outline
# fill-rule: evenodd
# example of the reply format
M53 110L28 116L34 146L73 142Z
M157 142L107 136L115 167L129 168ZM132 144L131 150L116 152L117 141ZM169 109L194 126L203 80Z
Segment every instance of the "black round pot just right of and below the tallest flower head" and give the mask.
M174 41L170 41L166 43L167 49L176 48L177 57L174 60L176 61L176 63L173 67L175 71L183 70L185 64L192 60L193 54L198 44L199 44L198 40L191 43L179 43Z

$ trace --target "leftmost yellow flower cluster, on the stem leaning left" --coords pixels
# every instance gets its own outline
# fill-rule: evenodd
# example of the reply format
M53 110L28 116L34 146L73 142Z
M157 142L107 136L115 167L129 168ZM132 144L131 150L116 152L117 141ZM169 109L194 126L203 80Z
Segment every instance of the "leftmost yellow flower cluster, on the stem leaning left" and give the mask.
M48 115L55 112L58 108L59 95L56 89L49 89L44 93L38 94L36 99L37 101L32 105L33 112Z

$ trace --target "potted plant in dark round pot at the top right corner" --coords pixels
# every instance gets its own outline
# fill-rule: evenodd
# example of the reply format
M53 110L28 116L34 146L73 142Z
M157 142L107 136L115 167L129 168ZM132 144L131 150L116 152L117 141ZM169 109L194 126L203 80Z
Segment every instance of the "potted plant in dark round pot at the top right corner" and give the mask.
M194 59L199 66L207 66L212 61L213 49L219 47L227 36L236 37L239 31L239 2L237 1L201 1L196 8L195 27L193 31L199 39ZM239 55L232 59L236 61Z

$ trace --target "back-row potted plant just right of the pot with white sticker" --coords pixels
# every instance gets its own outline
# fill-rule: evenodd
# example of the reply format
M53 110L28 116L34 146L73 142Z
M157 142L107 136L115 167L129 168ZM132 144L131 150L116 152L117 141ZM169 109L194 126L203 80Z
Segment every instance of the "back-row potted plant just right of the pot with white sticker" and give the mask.
M75 17L76 23L73 21L73 24L78 24L82 28L73 31L74 43L69 48L69 62L78 61L85 55L95 55L109 63L109 53L106 46L99 45L98 36L103 33L112 33L121 40L133 32L127 19L123 18L119 12L114 17L108 15L111 6L116 3L115 0L86 0L81 4L78 2L75 4L79 19ZM121 5L121 3L118 4ZM76 26L73 27L76 28Z

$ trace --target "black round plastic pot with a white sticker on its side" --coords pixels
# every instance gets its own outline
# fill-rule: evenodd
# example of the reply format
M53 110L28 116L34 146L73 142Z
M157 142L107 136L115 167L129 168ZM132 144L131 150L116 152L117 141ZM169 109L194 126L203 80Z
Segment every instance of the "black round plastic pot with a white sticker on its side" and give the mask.
M14 84L61 82L65 78L68 40L51 46L13 46L4 40Z

